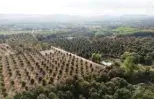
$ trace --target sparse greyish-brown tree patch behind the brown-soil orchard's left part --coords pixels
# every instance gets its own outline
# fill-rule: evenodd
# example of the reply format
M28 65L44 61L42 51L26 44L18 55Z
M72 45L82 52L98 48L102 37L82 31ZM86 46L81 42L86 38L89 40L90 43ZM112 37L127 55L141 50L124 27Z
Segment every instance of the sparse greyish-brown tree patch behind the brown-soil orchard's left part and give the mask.
M45 42L39 42L35 36L30 33L12 34L7 36L5 42L17 52L40 51L50 48L50 45Z

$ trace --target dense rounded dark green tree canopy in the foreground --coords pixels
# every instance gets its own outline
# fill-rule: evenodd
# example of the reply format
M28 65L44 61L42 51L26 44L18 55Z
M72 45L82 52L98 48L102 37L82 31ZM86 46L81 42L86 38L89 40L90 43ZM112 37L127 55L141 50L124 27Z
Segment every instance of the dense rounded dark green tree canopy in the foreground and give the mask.
M123 69L106 67L100 75L74 76L56 86L40 86L17 94L14 99L153 99L153 84L129 82Z

